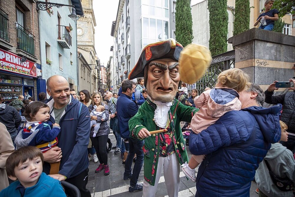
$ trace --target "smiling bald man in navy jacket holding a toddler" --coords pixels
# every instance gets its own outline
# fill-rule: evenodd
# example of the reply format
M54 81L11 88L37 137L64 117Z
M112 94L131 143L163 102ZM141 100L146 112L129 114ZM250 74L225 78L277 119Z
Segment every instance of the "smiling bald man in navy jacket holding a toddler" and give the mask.
M52 97L47 105L50 107L50 121L60 125L58 147L43 153L43 171L48 173L48 163L60 161L58 174L50 175L60 181L65 180L75 185L81 196L90 197L86 189L88 182L87 147L90 136L90 117L88 108L73 98L68 81L60 75L53 75L46 82L47 93ZM62 157L61 157L62 151ZM74 196L73 191L66 191Z

